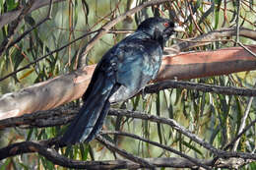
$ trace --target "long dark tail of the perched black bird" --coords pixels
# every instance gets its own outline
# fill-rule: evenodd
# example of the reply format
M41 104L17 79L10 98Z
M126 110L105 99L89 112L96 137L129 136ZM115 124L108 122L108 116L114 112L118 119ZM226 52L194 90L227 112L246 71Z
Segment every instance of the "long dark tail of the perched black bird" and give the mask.
M101 81L86 97L77 117L60 140L61 145L90 142L101 129L110 107L108 98L114 87L109 80Z

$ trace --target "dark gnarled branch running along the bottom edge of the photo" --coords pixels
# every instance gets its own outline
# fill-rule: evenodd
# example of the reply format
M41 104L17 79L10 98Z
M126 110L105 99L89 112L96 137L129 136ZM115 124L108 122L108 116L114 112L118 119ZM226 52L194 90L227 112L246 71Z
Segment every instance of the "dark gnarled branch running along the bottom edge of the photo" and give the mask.
M102 142L102 137L97 137L97 140ZM48 160L52 161L56 165L77 168L77 169L123 169L123 168L145 168L149 167L147 164L138 164L129 160L106 160L106 161L79 161L72 160L59 154L53 145L58 144L59 139L50 139L47 141L40 142L16 142L10 144L6 147L0 148L0 160L7 157L23 154L37 152L38 154L44 156ZM105 140L103 140L106 142ZM109 143L105 143L109 146ZM116 149L113 144L111 144L111 149ZM119 149L119 148L118 148ZM120 149L121 150L121 149ZM116 151L116 150L115 150ZM124 150L122 150L124 151ZM126 152L126 151L125 151ZM168 157L168 158L145 158L147 162L155 167L175 167L175 168L195 168L196 164L193 162L182 158L182 157ZM248 164L256 160L255 154L241 153L241 152L222 152L213 160L200 160L201 164L206 167L222 167L222 168L234 168L240 167L242 165ZM199 161L199 160L198 160Z

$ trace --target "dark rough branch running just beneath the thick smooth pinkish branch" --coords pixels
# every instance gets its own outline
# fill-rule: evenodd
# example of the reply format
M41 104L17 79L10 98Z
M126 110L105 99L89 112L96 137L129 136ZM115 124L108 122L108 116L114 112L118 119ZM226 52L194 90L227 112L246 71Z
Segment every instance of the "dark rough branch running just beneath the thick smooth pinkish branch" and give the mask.
M222 93L227 95L256 95L256 89L254 88L205 85L180 81L164 81L154 85L148 85L145 87L144 93L156 93L166 88L186 88L193 90L201 90L204 92ZM0 129L8 127L42 128L63 125L68 123L70 119L73 117L73 115L77 113L77 111L78 108L70 109L69 107L58 107L47 111L37 111L33 114L25 114L22 117L0 120Z

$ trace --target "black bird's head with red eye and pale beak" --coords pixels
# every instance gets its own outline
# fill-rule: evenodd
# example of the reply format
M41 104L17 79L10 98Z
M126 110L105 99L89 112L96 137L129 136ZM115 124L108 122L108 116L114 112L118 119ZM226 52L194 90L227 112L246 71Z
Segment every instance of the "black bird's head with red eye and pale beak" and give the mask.
M152 39L159 41L161 46L164 46L169 36L175 31L179 31L181 29L175 27L174 23L168 19L153 17L142 22L137 30L144 31L149 34Z

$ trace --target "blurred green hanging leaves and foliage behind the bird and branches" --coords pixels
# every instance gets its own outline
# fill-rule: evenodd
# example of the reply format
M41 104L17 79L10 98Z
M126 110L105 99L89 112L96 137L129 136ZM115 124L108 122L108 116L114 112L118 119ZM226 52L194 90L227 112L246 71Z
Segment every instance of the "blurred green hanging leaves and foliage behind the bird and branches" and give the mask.
M126 12L145 0L66 0L55 3L52 9L52 19L34 28L19 43L10 47L0 58L0 77L24 67L46 53L60 48L71 42L85 32L96 30L108 21ZM25 1L0 0L1 14L20 8ZM240 10L238 9L240 7ZM218 29L240 27L255 29L256 26L255 1L176 1L172 0L165 5L156 8L147 8L137 13L132 18L117 24L113 28L114 33L105 34L90 50L86 58L86 64L95 64L107 49L122 39L127 32L115 32L116 29L135 29L145 18L151 16L164 16L186 28L186 32L179 33L177 39L168 43L175 43L179 38L185 39L202 33ZM47 15L48 6L33 11L19 26L15 37L20 36L25 30L32 28ZM253 17L254 16L254 17ZM2 41L8 34L10 25L0 30ZM0 83L2 94L18 90L24 86L33 85L58 75L76 70L79 66L79 52L88 43L94 34L70 44L67 48L57 51L47 58L36 62L29 69L19 72L17 75ZM231 38L231 37L228 37ZM243 44L255 44L255 41L240 38ZM210 45L190 50L215 50L236 45L230 41L213 42ZM224 86L253 87L255 84L255 72L232 74L228 76L212 77L190 80L195 83L215 84ZM181 125L207 142L222 148L230 142L238 133L241 118L245 113L249 98L242 96L226 96L223 94L205 93L186 89L162 90L156 94L148 94L144 97L138 95L124 103L113 107L127 108L147 112L175 119ZM246 124L256 119L256 101L250 107ZM188 138L180 135L168 126L127 119L125 117L108 117L104 125L105 130L119 130L139 135L151 141L157 141L171 146L193 157L207 159L211 153ZM11 142L25 140L43 140L56 137L64 132L64 127L52 127L45 129L7 129L1 132L1 146ZM255 125L243 135L236 151L255 152L256 149ZM106 137L109 141L116 142L132 154L141 157L175 156L146 142L139 142L127 137ZM61 152L73 159L80 160L108 160L114 159L115 154L103 147L98 142L90 144L77 144L72 147L62 148ZM10 157L0 162L0 169L63 169L54 166L50 161L37 154L25 154ZM255 169L256 164L251 163L244 169Z

